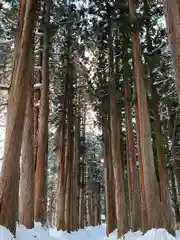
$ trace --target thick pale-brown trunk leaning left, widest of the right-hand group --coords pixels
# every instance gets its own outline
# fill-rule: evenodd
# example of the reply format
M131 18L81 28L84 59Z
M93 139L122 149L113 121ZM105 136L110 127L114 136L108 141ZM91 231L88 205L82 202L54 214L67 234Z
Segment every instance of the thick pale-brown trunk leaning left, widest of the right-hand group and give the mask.
M136 75L137 100L140 122L140 144L144 174L145 196L147 205L148 227L159 227L161 222L160 199L158 199L158 184L154 166L154 156L151 142L150 122L147 96L144 86L141 62L140 38L136 20L136 4L129 0L130 18L132 22L132 41L134 69Z

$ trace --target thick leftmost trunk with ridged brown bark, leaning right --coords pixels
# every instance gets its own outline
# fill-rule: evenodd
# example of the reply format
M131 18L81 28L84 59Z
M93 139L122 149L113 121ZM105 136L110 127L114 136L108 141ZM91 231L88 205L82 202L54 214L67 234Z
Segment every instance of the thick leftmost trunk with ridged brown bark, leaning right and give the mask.
M33 44L36 2L35 0L21 1L8 99L4 161L0 179L0 224L10 229L14 234L18 214L22 126L29 87L29 65L27 62Z

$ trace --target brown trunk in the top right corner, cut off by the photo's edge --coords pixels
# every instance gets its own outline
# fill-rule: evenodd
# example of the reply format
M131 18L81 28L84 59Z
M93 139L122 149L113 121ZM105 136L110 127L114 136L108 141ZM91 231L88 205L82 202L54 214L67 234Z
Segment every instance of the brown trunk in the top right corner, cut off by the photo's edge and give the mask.
M163 0L171 55L176 73L176 88L180 103L180 2Z

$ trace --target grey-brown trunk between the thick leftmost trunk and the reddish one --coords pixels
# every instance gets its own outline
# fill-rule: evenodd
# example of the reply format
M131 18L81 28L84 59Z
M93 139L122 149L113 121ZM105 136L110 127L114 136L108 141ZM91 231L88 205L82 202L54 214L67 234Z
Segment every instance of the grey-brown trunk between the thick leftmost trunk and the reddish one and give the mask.
M19 222L27 228L34 226L34 79L32 58L33 56L30 56L31 74L29 77L31 83L26 103L19 198Z

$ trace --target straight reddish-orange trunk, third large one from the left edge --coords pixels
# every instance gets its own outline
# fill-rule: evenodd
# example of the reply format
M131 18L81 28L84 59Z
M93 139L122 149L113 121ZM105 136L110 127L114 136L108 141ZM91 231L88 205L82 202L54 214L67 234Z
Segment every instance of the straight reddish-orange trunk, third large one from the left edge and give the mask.
M39 114L38 149L35 172L35 220L46 223L47 158L49 117L49 3L45 3L42 84Z

